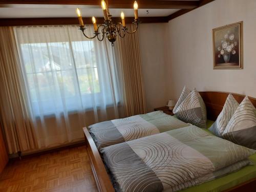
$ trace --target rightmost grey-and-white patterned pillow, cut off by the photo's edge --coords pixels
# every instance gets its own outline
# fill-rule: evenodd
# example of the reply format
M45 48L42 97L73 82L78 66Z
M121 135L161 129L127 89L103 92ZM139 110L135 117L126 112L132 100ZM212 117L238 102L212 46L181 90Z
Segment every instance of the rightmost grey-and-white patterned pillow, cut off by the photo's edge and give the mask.
M255 108L246 96L228 122L223 138L256 150Z

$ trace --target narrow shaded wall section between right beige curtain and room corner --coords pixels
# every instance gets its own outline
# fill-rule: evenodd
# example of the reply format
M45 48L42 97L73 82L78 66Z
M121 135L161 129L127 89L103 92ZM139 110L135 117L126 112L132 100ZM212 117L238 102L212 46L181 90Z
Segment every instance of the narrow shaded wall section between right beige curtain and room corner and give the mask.
M167 98L168 23L140 24L139 45L147 111L164 106Z

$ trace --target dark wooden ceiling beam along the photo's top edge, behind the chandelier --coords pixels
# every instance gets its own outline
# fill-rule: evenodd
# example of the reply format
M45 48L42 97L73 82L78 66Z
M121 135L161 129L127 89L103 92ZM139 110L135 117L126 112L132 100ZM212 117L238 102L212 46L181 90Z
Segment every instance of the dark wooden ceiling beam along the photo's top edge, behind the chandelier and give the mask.
M0 6L12 5L86 5L100 7L100 0L0 0ZM115 9L133 9L134 0L108 0L109 7ZM140 9L193 9L199 1L138 0Z

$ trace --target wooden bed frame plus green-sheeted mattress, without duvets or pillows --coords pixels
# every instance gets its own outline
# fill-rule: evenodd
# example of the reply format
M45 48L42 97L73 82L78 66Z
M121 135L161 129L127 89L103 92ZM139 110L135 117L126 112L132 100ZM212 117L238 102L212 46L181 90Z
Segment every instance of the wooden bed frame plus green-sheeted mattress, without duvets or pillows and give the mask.
M200 92L206 108L209 120L216 120L221 112L228 93L223 92ZM233 94L238 102L244 98L243 95ZM256 99L250 98L254 106ZM106 172L104 163L101 160L98 148L93 141L87 128L84 127L84 135L87 141L87 150L89 152L91 165L99 191L115 191L110 177ZM250 160L256 164L256 156L250 157ZM246 166L236 173L215 179L194 187L184 189L183 191L253 191L256 187L256 165ZM207 189L207 190L206 190Z

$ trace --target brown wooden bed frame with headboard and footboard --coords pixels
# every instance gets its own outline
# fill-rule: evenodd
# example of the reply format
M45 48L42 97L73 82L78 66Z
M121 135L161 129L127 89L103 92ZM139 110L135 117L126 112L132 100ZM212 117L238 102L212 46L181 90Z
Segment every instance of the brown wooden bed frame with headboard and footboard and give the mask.
M210 120L216 120L229 93L225 92L199 92L202 96L206 109L207 118ZM244 99L244 95L232 93L234 98L240 103ZM252 104L256 107L256 98L249 97ZM101 160L98 149L94 143L93 138L88 132L86 127L83 127L84 136L86 138L87 151L90 156L91 167L93 170L94 178L100 192L115 192L115 189L111 183L105 166ZM226 191L238 192L238 191L254 191L256 188L256 178L242 183Z

